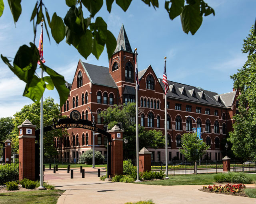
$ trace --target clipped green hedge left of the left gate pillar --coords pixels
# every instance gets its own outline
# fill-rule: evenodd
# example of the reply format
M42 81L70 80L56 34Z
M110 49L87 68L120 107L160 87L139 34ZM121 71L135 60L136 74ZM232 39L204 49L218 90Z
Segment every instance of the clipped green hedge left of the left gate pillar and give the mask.
M18 180L19 177L19 164L5 164L0 165L0 184L8 181Z

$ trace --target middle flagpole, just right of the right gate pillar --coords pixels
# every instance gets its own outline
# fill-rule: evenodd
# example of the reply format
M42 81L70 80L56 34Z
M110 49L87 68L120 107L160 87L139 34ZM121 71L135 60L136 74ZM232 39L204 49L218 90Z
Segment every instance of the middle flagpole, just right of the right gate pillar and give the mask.
M137 67L137 48L135 48L135 57L136 57L136 67ZM136 70L136 68L135 68ZM139 124L138 124L138 84L136 84L136 165L137 165L137 182L140 182L140 174L139 174Z

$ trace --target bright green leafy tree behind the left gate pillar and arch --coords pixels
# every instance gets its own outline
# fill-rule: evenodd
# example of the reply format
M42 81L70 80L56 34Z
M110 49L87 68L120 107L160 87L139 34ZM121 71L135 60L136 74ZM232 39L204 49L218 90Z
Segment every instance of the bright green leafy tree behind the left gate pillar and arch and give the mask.
M44 126L52 125L52 119L57 120L63 118L60 116L60 107L54 103L53 98L45 98L44 100ZM40 128L40 104L29 104L24 106L19 112L14 114L14 129L11 132L12 148L15 152L18 151L19 139L18 139L18 126L28 119L36 128ZM44 156L52 157L57 155L56 148L54 147L54 137L62 137L62 129L54 129L44 133ZM64 131L66 133L66 131Z

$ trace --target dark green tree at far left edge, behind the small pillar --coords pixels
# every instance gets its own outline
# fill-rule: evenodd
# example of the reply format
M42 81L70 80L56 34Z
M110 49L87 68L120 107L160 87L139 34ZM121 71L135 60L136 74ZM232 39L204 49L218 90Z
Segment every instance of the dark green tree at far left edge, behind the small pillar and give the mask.
M0 141L10 139L9 135L14 128L12 120L12 117L0 118Z

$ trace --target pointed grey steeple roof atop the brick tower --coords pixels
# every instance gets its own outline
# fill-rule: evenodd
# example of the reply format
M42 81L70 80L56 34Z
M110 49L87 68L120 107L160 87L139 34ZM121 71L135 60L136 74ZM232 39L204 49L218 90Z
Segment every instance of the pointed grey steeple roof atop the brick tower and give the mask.
M116 49L114 53L119 52L120 50L128 51L132 53L132 48L129 43L128 37L126 35L126 31L124 29L124 24L122 24L117 41L116 41Z

